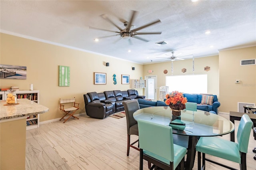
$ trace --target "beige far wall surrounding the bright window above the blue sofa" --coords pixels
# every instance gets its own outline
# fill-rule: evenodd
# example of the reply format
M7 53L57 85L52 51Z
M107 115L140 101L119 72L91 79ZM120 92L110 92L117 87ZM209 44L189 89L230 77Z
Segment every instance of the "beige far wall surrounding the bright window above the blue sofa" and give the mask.
M192 75L192 59L176 60L173 61L173 75ZM208 93L219 95L219 65L218 55L210 57L201 57L194 59L194 74L207 74L208 75ZM210 67L210 71L204 71L204 67ZM157 95L159 98L159 87L165 86L166 75L172 75L172 62L167 61L164 63L155 63L144 65L144 76L156 75L157 76ZM186 73L182 73L182 69L186 68ZM168 70L164 74L164 70ZM148 70L153 70L153 73L148 73ZM189 85L189 82L188 82ZM171 90L171 89L170 89Z

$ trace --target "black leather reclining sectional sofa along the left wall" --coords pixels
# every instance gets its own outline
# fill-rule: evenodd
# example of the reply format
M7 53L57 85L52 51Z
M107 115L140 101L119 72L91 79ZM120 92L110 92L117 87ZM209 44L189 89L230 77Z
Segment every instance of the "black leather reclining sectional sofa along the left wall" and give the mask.
M90 92L84 94L85 111L90 117L104 119L113 113L124 111L123 101L134 99L145 99L145 96L138 95L138 91L134 89Z

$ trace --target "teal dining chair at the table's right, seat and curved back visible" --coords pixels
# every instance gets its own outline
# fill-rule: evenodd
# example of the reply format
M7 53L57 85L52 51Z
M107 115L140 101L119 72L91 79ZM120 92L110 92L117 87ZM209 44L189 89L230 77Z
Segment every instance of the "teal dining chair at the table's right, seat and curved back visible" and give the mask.
M196 144L196 151L198 151L198 170L201 169L201 152L202 168L204 170L205 161L234 170L234 168L230 166L205 158L205 154L236 162L240 164L240 170L246 170L246 153L248 150L251 129L252 121L249 116L245 114L242 116L238 126L236 135L237 143L216 137L201 137Z

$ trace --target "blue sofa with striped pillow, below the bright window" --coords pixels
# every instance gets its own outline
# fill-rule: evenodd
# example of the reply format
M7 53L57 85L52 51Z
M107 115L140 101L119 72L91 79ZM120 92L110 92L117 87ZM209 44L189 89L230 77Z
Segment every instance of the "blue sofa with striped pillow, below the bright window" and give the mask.
M188 102L197 103L198 110L207 111L207 112L214 111L218 115L218 107L220 107L220 102L218 101L218 98L216 95L208 95L208 96L213 96L212 105L201 104L202 95L200 94L184 93L183 96L188 99Z

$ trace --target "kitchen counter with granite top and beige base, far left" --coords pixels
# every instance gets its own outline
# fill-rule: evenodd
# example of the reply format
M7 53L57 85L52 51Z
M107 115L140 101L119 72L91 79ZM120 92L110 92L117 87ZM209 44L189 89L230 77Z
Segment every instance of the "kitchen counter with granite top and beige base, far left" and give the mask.
M28 99L4 106L0 101L0 170L25 170L26 118L49 109Z

